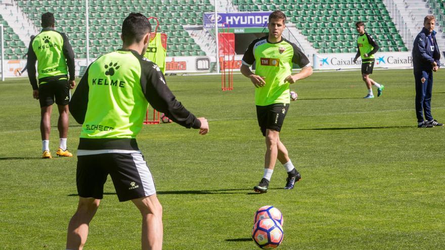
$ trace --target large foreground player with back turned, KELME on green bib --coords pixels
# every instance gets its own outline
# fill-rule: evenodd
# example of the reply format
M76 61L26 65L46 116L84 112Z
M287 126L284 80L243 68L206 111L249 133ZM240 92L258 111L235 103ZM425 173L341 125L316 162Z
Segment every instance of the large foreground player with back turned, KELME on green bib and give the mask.
M141 212L141 248L162 249L162 206L136 141L147 105L186 128L199 129L202 135L208 132L207 120L177 101L159 67L142 56L150 32L147 17L129 14L122 23L122 48L90 64L71 99L70 112L82 129L76 171L79 202L68 225L65 249L84 246L108 175L119 201L131 201Z

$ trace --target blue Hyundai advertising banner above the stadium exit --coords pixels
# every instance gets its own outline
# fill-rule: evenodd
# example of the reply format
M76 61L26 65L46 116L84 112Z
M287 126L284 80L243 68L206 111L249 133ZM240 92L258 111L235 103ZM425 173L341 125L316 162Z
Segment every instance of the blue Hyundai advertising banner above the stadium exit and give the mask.
M219 28L261 28L268 24L272 12L234 12L218 13L216 20ZM204 13L204 28L215 26L215 13Z

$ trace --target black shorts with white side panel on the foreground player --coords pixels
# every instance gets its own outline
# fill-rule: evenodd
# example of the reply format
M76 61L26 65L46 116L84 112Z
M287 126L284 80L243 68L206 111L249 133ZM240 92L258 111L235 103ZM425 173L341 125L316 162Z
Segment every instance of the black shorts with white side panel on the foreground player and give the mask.
M87 155L87 152L77 153L76 183L80 197L102 199L108 175L119 202L156 193L153 176L140 152L98 155Z

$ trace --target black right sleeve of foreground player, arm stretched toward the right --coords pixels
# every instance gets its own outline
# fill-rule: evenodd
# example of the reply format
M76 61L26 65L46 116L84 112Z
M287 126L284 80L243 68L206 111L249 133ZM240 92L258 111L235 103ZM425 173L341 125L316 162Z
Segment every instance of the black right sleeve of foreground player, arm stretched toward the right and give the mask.
M200 128L201 122L188 111L165 84L159 67L153 62L142 60L141 85L150 105L164 113L173 122L186 128Z

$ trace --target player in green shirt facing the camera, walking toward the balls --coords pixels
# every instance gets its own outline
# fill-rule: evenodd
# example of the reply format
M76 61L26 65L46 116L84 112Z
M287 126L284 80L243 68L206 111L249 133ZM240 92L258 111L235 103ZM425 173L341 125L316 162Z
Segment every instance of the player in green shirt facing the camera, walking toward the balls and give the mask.
M286 28L286 16L281 11L274 11L269 16L269 35L250 43L244 54L241 73L248 77L255 88L255 104L258 125L265 136L266 153L264 156L264 175L253 189L264 193L277 159L288 173L285 189L292 189L301 176L295 169L286 147L280 141L280 131L289 109L289 84L304 79L312 74L312 67L307 57L290 41L282 37ZM249 67L255 63L255 73ZM302 70L292 75L292 66L297 64Z

